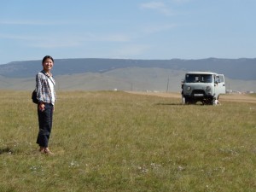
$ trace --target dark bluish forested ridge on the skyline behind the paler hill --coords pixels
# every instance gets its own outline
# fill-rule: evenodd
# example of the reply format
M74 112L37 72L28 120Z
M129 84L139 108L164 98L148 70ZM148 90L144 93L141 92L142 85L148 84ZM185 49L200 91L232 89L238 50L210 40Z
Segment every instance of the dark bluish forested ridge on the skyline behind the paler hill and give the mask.
M255 80L256 58L199 60L131 60L131 59L55 59L55 75L74 73L105 73L114 68L159 67L182 71L224 73L230 79ZM0 75L8 78L32 77L42 68L41 61L14 61L0 65Z

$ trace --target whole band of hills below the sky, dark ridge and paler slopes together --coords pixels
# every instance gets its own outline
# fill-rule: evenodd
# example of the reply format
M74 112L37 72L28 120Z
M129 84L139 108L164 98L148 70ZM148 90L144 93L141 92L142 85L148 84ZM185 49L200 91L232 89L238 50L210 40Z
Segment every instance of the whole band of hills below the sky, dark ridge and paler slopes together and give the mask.
M41 61L0 65L0 89L31 90ZM256 91L256 59L56 59L59 90L179 91L187 71L224 73L227 89Z

